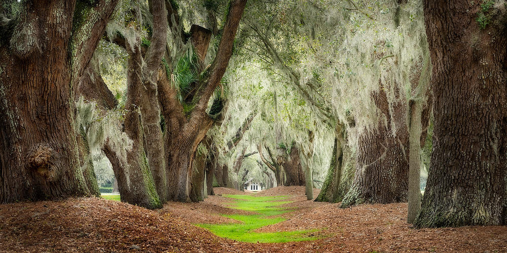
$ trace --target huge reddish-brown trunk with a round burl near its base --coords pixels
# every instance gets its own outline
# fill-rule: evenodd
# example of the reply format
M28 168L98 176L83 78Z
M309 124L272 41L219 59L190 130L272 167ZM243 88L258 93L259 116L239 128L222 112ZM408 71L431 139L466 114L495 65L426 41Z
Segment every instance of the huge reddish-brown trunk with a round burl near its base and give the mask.
M116 3L76 15L76 1L9 3L20 12L0 21L0 203L96 194L81 171L72 86Z

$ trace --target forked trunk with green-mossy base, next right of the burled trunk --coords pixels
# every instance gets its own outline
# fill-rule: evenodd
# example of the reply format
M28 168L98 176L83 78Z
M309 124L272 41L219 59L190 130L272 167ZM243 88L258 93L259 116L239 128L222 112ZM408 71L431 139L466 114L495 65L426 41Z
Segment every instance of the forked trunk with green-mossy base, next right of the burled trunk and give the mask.
M133 148L127 154L126 166L117 174L124 173L126 175L122 176L128 177L126 184L119 185L124 201L157 208L166 200L167 193L157 96L159 67L166 48L167 12L163 0L150 1L149 4L153 15L153 35L146 54L141 53L139 36L126 39L129 59L125 132L133 141ZM140 21L134 19L132 22Z

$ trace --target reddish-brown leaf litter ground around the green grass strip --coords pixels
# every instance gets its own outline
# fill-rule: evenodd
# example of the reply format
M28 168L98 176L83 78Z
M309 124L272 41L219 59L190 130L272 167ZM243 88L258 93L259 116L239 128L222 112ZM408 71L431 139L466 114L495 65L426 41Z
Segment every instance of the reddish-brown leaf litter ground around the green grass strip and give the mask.
M407 204L339 204L306 200L304 187L277 187L258 196L289 196L296 208L287 220L256 232L316 230L314 241L246 243L215 236L191 224L237 222L221 214L255 214L228 207L224 194L200 203L169 202L161 210L100 198L0 205L0 252L506 252L507 227L474 226L414 230ZM315 193L315 196L318 192ZM312 235L310 235L312 236Z

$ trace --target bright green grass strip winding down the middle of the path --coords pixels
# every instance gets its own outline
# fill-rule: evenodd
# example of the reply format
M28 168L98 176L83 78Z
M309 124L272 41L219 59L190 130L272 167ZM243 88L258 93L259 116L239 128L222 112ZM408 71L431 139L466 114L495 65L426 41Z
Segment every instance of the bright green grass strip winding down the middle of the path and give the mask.
M213 234L232 240L244 242L288 242L316 240L319 237L309 237L306 234L316 230L300 230L289 232L258 233L253 232L258 228L285 221L285 218L275 216L291 212L291 209L279 207L279 205L292 201L283 201L286 196L255 197L251 195L224 195L234 199L230 207L234 209L248 210L259 215L224 215L225 217L241 221L232 224L196 224L199 227L210 230ZM280 201L281 200L281 201Z

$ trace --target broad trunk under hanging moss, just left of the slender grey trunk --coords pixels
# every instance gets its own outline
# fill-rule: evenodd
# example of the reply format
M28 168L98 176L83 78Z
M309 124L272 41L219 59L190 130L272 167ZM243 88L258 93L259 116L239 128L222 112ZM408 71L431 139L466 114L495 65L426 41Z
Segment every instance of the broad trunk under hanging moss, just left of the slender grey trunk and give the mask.
M372 93L379 119L359 137L354 182L343 198L342 207L408 200L407 104L405 95L396 88L394 93L391 105L384 87Z

